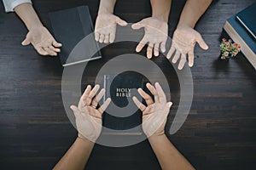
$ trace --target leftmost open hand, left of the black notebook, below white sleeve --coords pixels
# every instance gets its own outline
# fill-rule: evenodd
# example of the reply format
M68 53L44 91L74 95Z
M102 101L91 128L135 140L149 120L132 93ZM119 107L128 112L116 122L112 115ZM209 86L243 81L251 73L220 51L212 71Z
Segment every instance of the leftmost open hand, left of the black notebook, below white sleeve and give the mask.
M57 53L61 52L61 43L56 42L44 26L33 26L28 31L25 40L21 44L26 46L30 43L41 55L56 56Z

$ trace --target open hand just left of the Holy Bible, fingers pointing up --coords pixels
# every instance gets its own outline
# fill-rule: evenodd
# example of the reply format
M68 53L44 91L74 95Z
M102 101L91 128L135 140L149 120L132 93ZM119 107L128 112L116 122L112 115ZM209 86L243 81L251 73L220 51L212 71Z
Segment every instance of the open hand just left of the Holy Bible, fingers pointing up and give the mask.
M75 105L70 106L76 117L79 138L89 139L92 142L95 142L102 132L102 114L111 101L111 99L108 98L100 108L96 109L98 102L105 94L105 89L102 88L100 93L96 95L99 88L99 85L96 85L93 89L91 89L90 85L87 86L79 100L78 107Z

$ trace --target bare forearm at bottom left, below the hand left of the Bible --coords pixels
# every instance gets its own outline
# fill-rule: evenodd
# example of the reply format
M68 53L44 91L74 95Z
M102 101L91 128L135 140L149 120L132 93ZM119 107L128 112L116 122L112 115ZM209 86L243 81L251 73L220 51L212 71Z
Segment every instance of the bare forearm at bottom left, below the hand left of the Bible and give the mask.
M54 169L84 169L93 146L90 140L77 138Z

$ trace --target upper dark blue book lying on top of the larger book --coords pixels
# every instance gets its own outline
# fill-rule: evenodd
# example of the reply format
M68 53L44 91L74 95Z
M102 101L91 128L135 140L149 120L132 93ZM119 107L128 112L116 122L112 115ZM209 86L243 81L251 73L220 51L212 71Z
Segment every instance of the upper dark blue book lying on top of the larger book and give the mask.
M247 31L256 40L256 3L245 8L240 13L236 14L236 19L240 21L241 25L244 26Z

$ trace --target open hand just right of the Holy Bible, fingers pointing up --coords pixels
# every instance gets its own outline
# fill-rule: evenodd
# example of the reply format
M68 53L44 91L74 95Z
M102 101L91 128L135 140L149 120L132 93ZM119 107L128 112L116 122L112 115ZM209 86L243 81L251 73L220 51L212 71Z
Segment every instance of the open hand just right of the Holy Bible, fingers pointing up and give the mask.
M166 120L172 102L166 101L166 94L158 82L155 83L155 88L150 83L147 83L146 86L150 93L154 95L154 100L142 88L137 91L145 99L147 106L143 105L136 97L132 99L135 105L143 111L143 132L147 137L160 136L165 133Z

